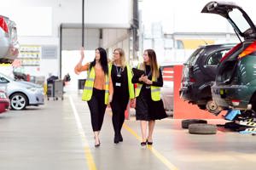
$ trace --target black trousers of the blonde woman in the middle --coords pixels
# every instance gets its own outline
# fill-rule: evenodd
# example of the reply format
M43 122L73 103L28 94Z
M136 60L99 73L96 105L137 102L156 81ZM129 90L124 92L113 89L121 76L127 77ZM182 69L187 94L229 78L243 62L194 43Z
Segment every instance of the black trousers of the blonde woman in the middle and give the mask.
M120 101L118 99L113 99L110 103L112 109L112 123L113 130L115 135L119 135L121 133L121 128L125 122L125 107L123 106L124 101ZM121 103L121 104L120 104Z

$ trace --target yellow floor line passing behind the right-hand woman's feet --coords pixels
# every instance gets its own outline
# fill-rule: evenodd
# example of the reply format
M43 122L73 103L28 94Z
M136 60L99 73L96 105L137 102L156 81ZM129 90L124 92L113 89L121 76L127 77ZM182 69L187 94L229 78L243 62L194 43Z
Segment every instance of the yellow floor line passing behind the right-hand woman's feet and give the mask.
M108 113L110 116L112 116L112 112L108 112ZM123 124L123 127L125 128L125 130L127 130L129 133L135 136L137 140L139 141L142 140L142 138L131 127L126 125L126 123ZM159 151L155 150L153 146L148 146L147 148L148 150L152 151L154 156L156 156L162 163L164 163L166 167L168 167L171 170L178 170L178 168L175 167L170 161L168 161L165 156L162 156Z

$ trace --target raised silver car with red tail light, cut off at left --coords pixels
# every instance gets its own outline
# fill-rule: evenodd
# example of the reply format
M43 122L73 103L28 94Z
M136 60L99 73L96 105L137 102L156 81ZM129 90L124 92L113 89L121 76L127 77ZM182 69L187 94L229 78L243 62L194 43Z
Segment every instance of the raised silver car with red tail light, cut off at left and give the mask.
M12 63L19 54L15 22L0 15L0 63Z

